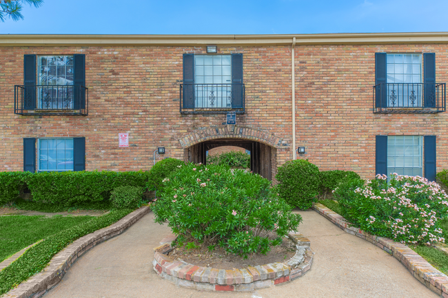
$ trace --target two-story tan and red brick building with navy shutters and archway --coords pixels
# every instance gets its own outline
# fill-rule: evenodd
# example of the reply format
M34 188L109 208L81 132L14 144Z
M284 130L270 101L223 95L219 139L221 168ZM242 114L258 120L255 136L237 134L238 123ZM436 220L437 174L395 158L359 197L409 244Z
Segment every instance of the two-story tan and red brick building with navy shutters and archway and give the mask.
M201 162L236 146L269 179L293 158L434 179L448 167L447 43L447 33L0 35L1 171L147 170L158 147L156 160Z

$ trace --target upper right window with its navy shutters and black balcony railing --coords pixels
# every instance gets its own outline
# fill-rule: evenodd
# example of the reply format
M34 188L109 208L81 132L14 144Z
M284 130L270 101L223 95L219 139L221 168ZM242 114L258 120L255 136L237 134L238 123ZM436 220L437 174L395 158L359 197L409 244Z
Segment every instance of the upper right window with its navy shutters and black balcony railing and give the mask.
M375 113L438 113L445 109L445 83L436 82L436 54L375 54Z

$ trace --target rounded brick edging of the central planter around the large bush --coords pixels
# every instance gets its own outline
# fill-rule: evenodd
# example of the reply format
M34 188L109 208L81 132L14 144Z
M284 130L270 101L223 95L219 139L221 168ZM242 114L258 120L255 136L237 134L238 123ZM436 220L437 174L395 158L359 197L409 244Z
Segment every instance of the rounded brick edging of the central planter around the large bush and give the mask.
M267 288L292 281L311 268L313 252L309 247L309 240L300 234L290 235L289 239L296 244L296 255L286 262L225 270L172 259L167 253L172 251L171 242L176 240L176 236L170 235L160 242L161 246L154 248L152 265L161 277L178 286L196 290L251 291Z

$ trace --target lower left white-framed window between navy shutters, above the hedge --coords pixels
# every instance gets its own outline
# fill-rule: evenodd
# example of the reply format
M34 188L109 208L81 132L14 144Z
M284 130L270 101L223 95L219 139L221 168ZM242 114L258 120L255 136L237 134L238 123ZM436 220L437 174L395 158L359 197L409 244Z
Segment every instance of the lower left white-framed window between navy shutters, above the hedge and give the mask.
M73 171L72 138L40 138L38 171Z

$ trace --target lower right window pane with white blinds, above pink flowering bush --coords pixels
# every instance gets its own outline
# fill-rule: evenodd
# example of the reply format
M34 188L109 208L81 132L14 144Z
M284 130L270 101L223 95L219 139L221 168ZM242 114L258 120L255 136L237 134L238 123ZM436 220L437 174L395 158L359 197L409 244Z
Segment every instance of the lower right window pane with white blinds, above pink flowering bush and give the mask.
M422 176L422 136L387 136L387 175Z

